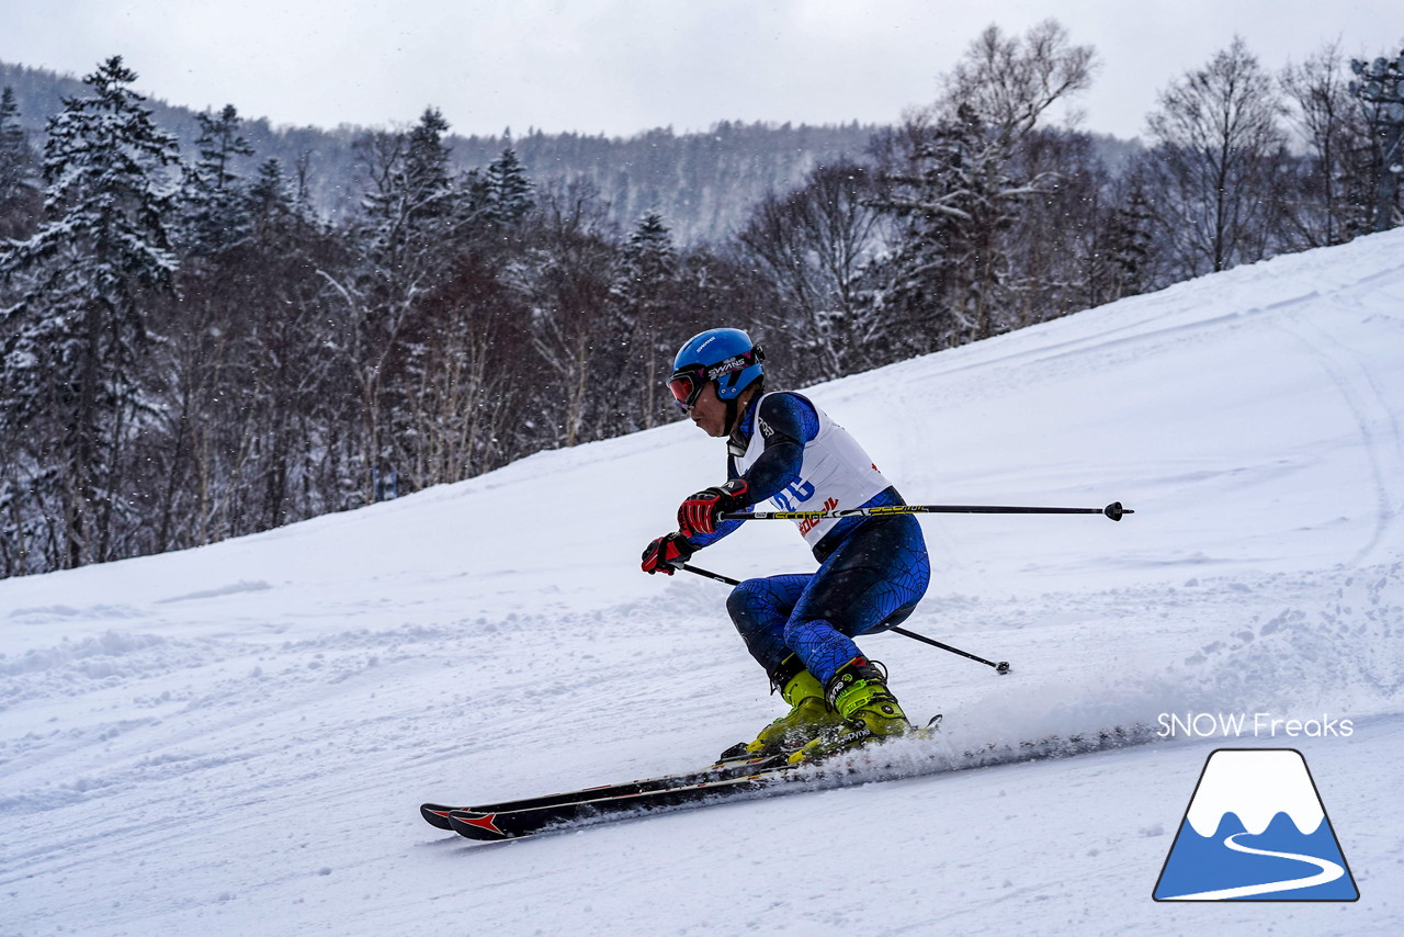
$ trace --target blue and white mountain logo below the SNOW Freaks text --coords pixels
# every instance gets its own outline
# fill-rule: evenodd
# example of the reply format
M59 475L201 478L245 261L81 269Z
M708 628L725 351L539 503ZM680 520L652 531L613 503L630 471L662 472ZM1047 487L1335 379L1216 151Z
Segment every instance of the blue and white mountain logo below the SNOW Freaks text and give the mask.
M1360 898L1296 749L1217 749L1170 847L1158 902Z

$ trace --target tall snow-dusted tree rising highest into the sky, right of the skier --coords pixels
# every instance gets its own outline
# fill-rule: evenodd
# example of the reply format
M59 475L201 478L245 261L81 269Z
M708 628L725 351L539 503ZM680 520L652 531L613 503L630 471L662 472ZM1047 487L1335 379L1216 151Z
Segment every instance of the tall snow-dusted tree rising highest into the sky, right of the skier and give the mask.
M1090 46L1054 21L1022 37L987 28L945 81L936 104L886 143L886 187L875 204L900 222L873 267L879 310L907 323L907 351L984 339L1019 325L1021 205L1059 184L1057 170L1019 160L1047 110L1091 81Z

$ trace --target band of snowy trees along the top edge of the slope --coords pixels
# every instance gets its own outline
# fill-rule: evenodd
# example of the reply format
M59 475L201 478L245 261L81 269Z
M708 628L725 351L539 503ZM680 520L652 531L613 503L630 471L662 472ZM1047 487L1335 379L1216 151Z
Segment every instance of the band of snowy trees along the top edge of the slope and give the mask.
M456 169L434 107L358 136L359 205L331 221L309 160L258 162L233 105L183 156L119 56L39 149L6 89L0 575L658 426L673 351L715 325L804 386L1401 222L1404 53L1273 76L1236 41L1161 93L1120 167L1047 119L1095 66L1057 22L990 27L862 159L687 247L510 146Z

